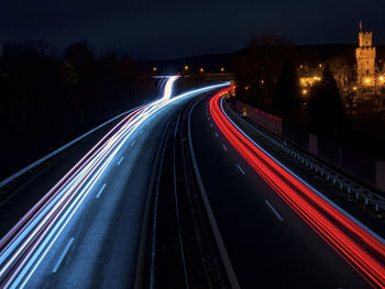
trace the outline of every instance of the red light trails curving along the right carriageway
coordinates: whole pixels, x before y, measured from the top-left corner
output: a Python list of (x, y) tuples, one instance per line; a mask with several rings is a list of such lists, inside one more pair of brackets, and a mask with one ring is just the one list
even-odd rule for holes
[(334, 251), (375, 288), (385, 288), (385, 241), (306, 184), (251, 140), (223, 110), (223, 96), (210, 100), (215, 123), (250, 166)]

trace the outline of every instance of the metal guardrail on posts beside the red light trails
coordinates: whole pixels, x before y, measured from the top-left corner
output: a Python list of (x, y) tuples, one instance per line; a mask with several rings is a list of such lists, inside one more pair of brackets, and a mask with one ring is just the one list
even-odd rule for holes
[(270, 143), (272, 143), (275, 147), (279, 148), (282, 152), (284, 152), (292, 158), (296, 159), (301, 166), (310, 169), (316, 175), (322, 177), (326, 181), (345, 191), (355, 200), (363, 201), (363, 203), (366, 207), (372, 205), (375, 212), (378, 212), (380, 210), (383, 210), (385, 212), (384, 197), (378, 196), (377, 193), (369, 190), (367, 188), (354, 182), (349, 177), (337, 173), (336, 170), (331, 169), (324, 164), (321, 164), (311, 155), (299, 151), (290, 144), (287, 144), (284, 140), (257, 129), (256, 126), (242, 119), (242, 116), (240, 116), (237, 111), (230, 108), (228, 102), (226, 102), (226, 105), (228, 110), (233, 112), (232, 114), (234, 114), (238, 118), (238, 120), (242, 122), (242, 124), (246, 125), (250, 130), (252, 130)]

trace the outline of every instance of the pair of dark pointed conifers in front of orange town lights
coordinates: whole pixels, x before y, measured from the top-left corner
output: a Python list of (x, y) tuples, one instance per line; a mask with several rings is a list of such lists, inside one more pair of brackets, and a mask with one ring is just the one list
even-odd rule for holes
[(329, 65), (323, 69), (321, 81), (304, 97), (296, 67), (287, 60), (277, 79), (272, 110), (285, 122), (306, 125), (327, 136), (337, 137), (346, 125), (345, 105)]

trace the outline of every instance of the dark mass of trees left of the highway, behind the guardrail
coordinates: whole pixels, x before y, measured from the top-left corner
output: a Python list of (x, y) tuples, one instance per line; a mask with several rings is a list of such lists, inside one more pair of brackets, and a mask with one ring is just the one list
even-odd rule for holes
[(0, 55), (0, 179), (151, 98), (154, 80), (130, 56), (96, 56), (85, 43), (58, 55), (43, 42)]

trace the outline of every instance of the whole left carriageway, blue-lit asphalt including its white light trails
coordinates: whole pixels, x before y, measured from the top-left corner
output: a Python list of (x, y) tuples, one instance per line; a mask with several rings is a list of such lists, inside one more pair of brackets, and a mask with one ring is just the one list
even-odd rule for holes
[(168, 119), (197, 95), (161, 99), (117, 124), (0, 241), (1, 288), (131, 288), (154, 156)]

